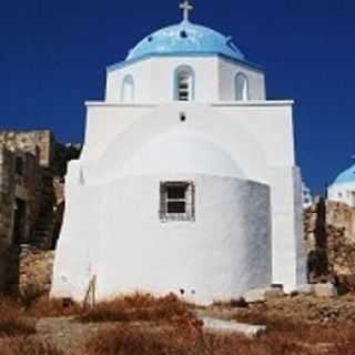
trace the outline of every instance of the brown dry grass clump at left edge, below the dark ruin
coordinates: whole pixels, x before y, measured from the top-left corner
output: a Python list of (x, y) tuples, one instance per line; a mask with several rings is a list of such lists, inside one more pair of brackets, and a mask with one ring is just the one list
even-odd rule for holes
[(10, 300), (0, 300), (0, 337), (34, 333), (34, 322), (23, 318), (23, 314), (17, 303)]

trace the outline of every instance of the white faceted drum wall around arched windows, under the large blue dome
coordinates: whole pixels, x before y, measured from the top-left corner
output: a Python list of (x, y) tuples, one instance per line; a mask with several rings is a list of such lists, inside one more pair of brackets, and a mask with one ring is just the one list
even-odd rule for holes
[(174, 101), (175, 70), (181, 65), (194, 71), (194, 101), (234, 101), (235, 75), (244, 73), (248, 79), (250, 100), (265, 100), (265, 79), (261, 70), (220, 57), (168, 57), (151, 58), (109, 69), (105, 101), (119, 103), (122, 82), (126, 75), (134, 79), (134, 102), (164, 103)]

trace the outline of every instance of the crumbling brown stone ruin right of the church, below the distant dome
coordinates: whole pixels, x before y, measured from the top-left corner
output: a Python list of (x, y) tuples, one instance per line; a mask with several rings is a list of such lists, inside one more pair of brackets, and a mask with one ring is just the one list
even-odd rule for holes
[(317, 197), (304, 213), (308, 281), (355, 288), (355, 209)]

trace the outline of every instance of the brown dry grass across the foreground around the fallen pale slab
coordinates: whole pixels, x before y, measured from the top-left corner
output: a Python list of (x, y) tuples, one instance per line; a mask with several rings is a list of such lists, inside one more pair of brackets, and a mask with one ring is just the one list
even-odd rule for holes
[(235, 320), (267, 326), (265, 335), (248, 339), (237, 335), (204, 333), (201, 323), (193, 316), (180, 317), (178, 314), (178, 323), (159, 323), (155, 326), (144, 326), (140, 323), (103, 329), (88, 342), (87, 353), (88, 355), (355, 354), (355, 332), (341, 323), (332, 325), (310, 323), (245, 310), (235, 316)]

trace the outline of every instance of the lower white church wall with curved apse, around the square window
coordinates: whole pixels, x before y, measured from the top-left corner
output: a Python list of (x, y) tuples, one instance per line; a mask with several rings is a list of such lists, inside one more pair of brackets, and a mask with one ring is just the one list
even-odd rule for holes
[[(159, 186), (166, 180), (194, 181), (195, 222), (160, 221)], [(65, 214), (52, 296), (67, 293), (82, 301), (82, 285), (92, 275), (98, 277), (99, 300), (134, 291), (179, 294), (183, 288), (190, 301), (205, 304), (270, 285), (270, 191), (265, 185), (165, 174), (126, 178), (92, 189), (81, 187), (70, 200), (88, 220), (82, 223), (78, 215)], [(88, 203), (88, 199), (100, 203)]]

